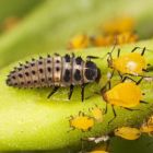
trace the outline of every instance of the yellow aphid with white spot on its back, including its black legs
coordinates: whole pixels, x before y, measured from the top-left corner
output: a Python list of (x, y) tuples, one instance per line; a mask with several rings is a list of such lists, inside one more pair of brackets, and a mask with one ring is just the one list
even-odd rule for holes
[(145, 47), (143, 48), (142, 52), (134, 52), (139, 47), (132, 49), (130, 54), (120, 56), (120, 49), (118, 50), (118, 55), (116, 59), (113, 59), (111, 52), (109, 52), (109, 57), (107, 59), (108, 67), (116, 70), (119, 75), (121, 74), (132, 74), (132, 75), (140, 75), (143, 71), (146, 72), (146, 61), (143, 57), (145, 52)]

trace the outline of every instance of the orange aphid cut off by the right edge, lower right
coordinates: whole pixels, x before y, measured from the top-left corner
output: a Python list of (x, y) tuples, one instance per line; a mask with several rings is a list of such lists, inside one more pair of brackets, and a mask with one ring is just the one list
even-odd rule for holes
[(151, 116), (140, 128), (141, 132), (153, 134), (153, 116)]

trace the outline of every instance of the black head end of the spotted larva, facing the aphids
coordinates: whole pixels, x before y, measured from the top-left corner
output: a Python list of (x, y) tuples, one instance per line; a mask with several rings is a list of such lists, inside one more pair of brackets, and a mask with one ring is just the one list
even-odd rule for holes
[(101, 70), (93, 61), (86, 61), (84, 67), (84, 81), (85, 82), (98, 82), (101, 79)]

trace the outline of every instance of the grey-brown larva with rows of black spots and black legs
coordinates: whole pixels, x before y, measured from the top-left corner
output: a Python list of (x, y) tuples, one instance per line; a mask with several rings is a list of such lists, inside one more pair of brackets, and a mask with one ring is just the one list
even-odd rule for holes
[(73, 87), (81, 85), (82, 101), (84, 99), (84, 86), (87, 83), (98, 81), (101, 71), (96, 64), (91, 61), (92, 56), (86, 57), (84, 61), (81, 57), (66, 55), (63, 57), (55, 54), (46, 58), (39, 57), (10, 72), (7, 84), (14, 87), (50, 87), (52, 92), (48, 98), (61, 87), (70, 86), (69, 99), (72, 96)]

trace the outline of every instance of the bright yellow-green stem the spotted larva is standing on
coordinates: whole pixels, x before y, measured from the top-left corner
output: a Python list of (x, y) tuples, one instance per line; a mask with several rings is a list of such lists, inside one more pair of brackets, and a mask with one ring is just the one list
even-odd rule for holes
[[(153, 47), (153, 40), (142, 42), (138, 46)], [(121, 54), (130, 52), (133, 45), (121, 48)], [(95, 48), (80, 50), (76, 55), (98, 55), (104, 57), (110, 48)], [(64, 51), (62, 51), (64, 52)], [(116, 54), (116, 51), (115, 51)], [(114, 54), (114, 56), (116, 56)], [(146, 51), (145, 58), (148, 62), (153, 64), (153, 52)], [(27, 58), (27, 60), (31, 58)], [(24, 60), (23, 60), (24, 61)], [(113, 118), (113, 111), (109, 107), (108, 114), (104, 118), (104, 122), (96, 123), (91, 131), (82, 132), (80, 130), (70, 130), (69, 117), (76, 116), (79, 111), (89, 113), (89, 108), (95, 104), (99, 108), (105, 107), (102, 96), (95, 95), (95, 91), (99, 91), (99, 86), (106, 82), (106, 73), (108, 70), (106, 58), (95, 60), (102, 71), (101, 84), (91, 84), (85, 89), (85, 97), (91, 96), (81, 103), (80, 89), (74, 90), (71, 101), (67, 99), (68, 89), (60, 90), (50, 99), (47, 94), (50, 89), (39, 90), (19, 90), (5, 85), (5, 78), (15, 63), (0, 71), (0, 150), (60, 150), (64, 148), (74, 152), (81, 149), (82, 137), (104, 134), (113, 130), (115, 127), (122, 125), (139, 125), (152, 111), (152, 83), (143, 82), (142, 91), (145, 93), (144, 101), (150, 104), (141, 104), (138, 108), (141, 110), (128, 111), (116, 108), (117, 118), (108, 126), (109, 119)], [(149, 73), (152, 75), (152, 72)], [(149, 75), (148, 74), (148, 75)], [(125, 91), (126, 92), (126, 91)], [(69, 132), (68, 132), (69, 131)]]

